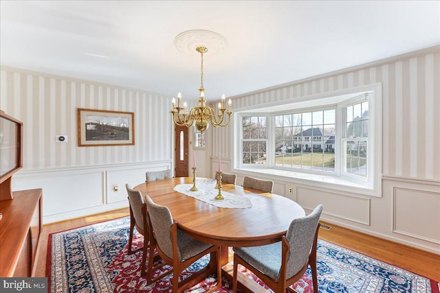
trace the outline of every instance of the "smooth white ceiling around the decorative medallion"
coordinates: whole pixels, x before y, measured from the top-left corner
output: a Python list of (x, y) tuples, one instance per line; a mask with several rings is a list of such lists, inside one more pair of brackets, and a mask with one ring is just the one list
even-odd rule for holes
[[(440, 45), (440, 1), (0, 1), (1, 65), (196, 98), (200, 56), (175, 37), (228, 40), (204, 55), (208, 100)], [(209, 48), (208, 48), (209, 49)]]

